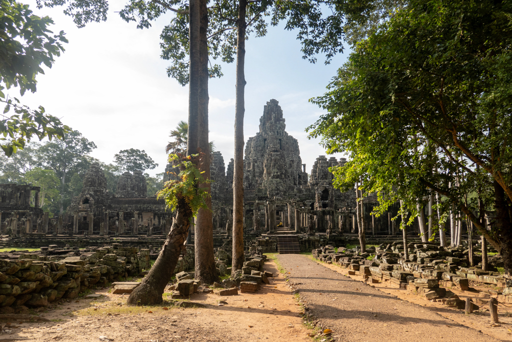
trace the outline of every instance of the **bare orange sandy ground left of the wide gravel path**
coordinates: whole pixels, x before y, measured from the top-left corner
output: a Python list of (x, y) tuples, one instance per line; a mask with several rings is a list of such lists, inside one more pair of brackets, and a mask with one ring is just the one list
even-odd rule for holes
[[(23, 323), (0, 321), (0, 342), (54, 341), (310, 341), (299, 314), (301, 308), (272, 261), (270, 285), (257, 293), (220, 297), (195, 294), (190, 301), (206, 308), (126, 307), (126, 295), (97, 291), (97, 298), (63, 301), (41, 316), (54, 321)], [(221, 300), (227, 304), (219, 305)], [(45, 309), (46, 310), (46, 309)], [(0, 329), (1, 331), (1, 329)], [(100, 337), (103, 336), (102, 339)]]

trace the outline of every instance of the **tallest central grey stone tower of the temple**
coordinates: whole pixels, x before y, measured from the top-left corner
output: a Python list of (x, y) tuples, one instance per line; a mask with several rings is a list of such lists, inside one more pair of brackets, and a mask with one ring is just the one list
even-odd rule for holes
[(285, 130), (279, 102), (271, 99), (260, 118), (260, 132), (250, 137), (245, 148), (244, 188), (260, 189), (259, 195), (281, 198), (289, 190), (308, 183), (302, 167), (297, 139)]

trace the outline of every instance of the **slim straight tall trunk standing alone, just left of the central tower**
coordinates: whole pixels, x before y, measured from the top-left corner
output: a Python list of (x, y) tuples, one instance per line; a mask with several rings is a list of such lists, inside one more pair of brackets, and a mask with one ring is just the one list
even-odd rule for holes
[(244, 266), (244, 113), (245, 113), (245, 12), (247, 0), (240, 0), (237, 36), (237, 94), (234, 113), (233, 172), (233, 261), (231, 272)]

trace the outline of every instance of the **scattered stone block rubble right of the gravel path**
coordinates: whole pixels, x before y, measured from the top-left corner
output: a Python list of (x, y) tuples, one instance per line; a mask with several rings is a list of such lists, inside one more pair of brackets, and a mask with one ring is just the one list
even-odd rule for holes
[[(364, 276), (370, 283), (389, 281), (398, 288), (424, 295), (427, 299), (464, 308), (464, 301), (446, 290), (468, 290), (470, 285), (493, 287), (488, 293), (499, 301), (512, 303), (512, 284), (508, 284), (497, 267), (503, 266), (499, 257), (489, 256), (489, 270), (467, 266), (467, 250), (462, 247), (445, 248), (433, 243), (408, 245), (409, 260), (403, 259), (403, 244), (394, 242), (378, 248), (346, 249), (328, 245), (314, 249), (314, 258), (348, 269), (349, 275)], [(503, 289), (502, 291), (496, 288)], [(483, 304), (483, 303), (480, 303)]]

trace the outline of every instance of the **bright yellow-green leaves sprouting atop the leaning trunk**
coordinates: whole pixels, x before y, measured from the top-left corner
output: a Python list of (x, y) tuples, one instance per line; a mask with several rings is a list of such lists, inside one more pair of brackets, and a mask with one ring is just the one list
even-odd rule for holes
[(208, 210), (206, 198), (210, 194), (206, 191), (206, 188), (201, 188), (200, 185), (210, 183), (211, 180), (204, 179), (203, 172), (197, 168), (198, 156), (199, 154), (191, 156), (169, 155), (169, 163), (178, 165), (181, 172), (178, 174), (179, 180), (165, 182), (164, 188), (157, 193), (157, 198), (165, 199), (167, 209), (176, 210), (179, 198), (183, 198), (194, 216), (200, 208)]

